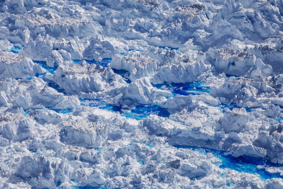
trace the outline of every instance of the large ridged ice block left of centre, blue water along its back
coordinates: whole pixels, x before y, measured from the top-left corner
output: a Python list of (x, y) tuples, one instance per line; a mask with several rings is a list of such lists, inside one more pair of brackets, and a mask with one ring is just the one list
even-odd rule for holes
[(59, 66), (55, 74), (47, 75), (47, 78), (55, 81), (66, 92), (78, 95), (99, 93), (98, 95), (111, 96), (116, 94), (114, 90), (119, 91), (119, 88), (126, 85), (120, 75), (114, 74), (111, 68), (87, 64), (85, 61), (80, 64)]

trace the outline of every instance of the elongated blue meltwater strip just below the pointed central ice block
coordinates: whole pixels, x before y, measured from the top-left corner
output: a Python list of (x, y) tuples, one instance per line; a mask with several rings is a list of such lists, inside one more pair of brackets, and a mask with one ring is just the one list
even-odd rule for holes
[(135, 118), (136, 120), (141, 120), (149, 116), (150, 114), (158, 115), (161, 117), (169, 117), (170, 113), (165, 108), (161, 108), (159, 105), (136, 105), (135, 109), (131, 109), (130, 112), (123, 112), (120, 105), (114, 105), (105, 103), (103, 100), (98, 99), (80, 99), (81, 105), (98, 107), (103, 110), (109, 110), (111, 112), (119, 112), (122, 116), (126, 118)]

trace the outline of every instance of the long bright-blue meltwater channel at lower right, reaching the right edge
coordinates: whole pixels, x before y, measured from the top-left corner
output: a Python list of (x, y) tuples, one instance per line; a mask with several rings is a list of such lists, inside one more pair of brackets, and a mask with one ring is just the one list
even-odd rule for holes
[(282, 169), (282, 165), (275, 164), (270, 162), (267, 159), (251, 157), (251, 156), (240, 156), (234, 157), (231, 153), (225, 151), (219, 151), (208, 148), (184, 146), (184, 145), (174, 145), (176, 148), (185, 148), (192, 149), (193, 151), (199, 151), (200, 153), (206, 154), (208, 152), (212, 153), (215, 157), (219, 158), (219, 162), (216, 162), (216, 165), (219, 165), (219, 168), (229, 168), (238, 172), (245, 172), (250, 174), (257, 173), (260, 175), (260, 179), (271, 179), (271, 178), (283, 178), (279, 173), (271, 174), (265, 171), (264, 169), (257, 168), (258, 165), (265, 167), (278, 167)]

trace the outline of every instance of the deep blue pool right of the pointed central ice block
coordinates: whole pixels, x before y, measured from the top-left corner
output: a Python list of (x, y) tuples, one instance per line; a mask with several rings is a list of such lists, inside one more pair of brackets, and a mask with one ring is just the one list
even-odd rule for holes
[[(152, 84), (152, 86), (158, 88), (158, 89), (167, 89), (170, 90), (173, 94), (173, 96), (176, 96), (176, 94), (185, 95), (188, 96), (190, 94), (197, 94), (197, 92), (206, 92), (209, 93), (210, 88), (204, 86), (205, 84), (203, 82), (193, 82), (193, 83), (164, 83), (164, 84)], [(161, 88), (162, 86), (165, 86), (165, 88)], [(195, 91), (195, 92), (194, 92)]]

